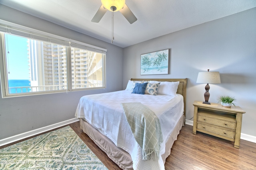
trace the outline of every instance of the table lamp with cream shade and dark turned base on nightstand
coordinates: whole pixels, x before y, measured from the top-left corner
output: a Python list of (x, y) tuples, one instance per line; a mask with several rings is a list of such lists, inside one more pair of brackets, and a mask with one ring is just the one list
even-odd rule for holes
[(220, 72), (198, 72), (198, 77), (196, 80), (197, 83), (207, 83), (205, 86), (206, 92), (204, 93), (204, 102), (203, 104), (210, 104), (208, 102), (210, 98), (210, 93), (209, 93), (209, 83), (211, 84), (220, 84)]

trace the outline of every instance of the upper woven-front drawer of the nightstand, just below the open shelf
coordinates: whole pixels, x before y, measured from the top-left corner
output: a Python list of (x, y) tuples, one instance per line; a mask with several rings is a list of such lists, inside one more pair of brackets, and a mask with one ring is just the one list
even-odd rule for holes
[(236, 129), (235, 121), (227, 121), (227, 120), (217, 119), (215, 117), (208, 117), (208, 116), (200, 114), (200, 113), (198, 113), (197, 121), (209, 123), (211, 125), (216, 125), (216, 126), (220, 126), (220, 127), (226, 127), (228, 129)]

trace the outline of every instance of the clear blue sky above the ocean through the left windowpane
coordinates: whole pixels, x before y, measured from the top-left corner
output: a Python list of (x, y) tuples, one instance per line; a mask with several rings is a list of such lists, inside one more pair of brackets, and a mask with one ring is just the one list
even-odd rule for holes
[(8, 80), (29, 80), (27, 39), (8, 34), (5, 39)]

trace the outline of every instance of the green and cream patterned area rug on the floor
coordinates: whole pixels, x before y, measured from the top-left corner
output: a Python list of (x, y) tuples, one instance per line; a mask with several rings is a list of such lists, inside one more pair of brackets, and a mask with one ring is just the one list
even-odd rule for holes
[(0, 149), (0, 170), (108, 170), (69, 126)]

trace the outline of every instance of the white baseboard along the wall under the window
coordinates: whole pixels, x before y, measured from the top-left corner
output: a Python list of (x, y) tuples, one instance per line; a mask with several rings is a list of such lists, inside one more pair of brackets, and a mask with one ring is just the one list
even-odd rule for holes
[(41, 127), (41, 128), (38, 128), (38, 129), (34, 129), (32, 131), (28, 131), (28, 132), (21, 133), (21, 134), (15, 135), (15, 136), (11, 136), (11, 137), (8, 137), (8, 138), (5, 138), (5, 139), (1, 139), (0, 140), (0, 146), (7, 145), (9, 143), (19, 141), (21, 139), (25, 139), (27, 137), (31, 137), (31, 136), (37, 135), (39, 133), (50, 131), (52, 129), (55, 129), (55, 128), (58, 128), (58, 127), (61, 127), (61, 126), (64, 126), (64, 125), (68, 125), (68, 124), (74, 123), (76, 121), (79, 121), (79, 119), (73, 118), (73, 119), (69, 119), (69, 120), (66, 120), (66, 121), (59, 122), (59, 123), (55, 123), (53, 125), (48, 125), (46, 127)]

